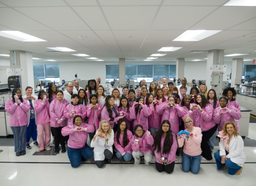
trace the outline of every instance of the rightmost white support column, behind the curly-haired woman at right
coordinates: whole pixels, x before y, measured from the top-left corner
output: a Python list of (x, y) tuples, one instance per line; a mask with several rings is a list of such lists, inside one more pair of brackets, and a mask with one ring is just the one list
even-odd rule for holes
[(241, 84), (243, 73), (243, 58), (234, 58), (232, 60), (231, 87)]

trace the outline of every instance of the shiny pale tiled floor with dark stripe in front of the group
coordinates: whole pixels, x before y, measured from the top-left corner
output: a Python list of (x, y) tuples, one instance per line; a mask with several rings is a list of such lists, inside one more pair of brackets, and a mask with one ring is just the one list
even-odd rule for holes
[[(256, 139), (256, 123), (250, 124), (248, 137)], [(133, 161), (121, 163), (114, 156), (111, 164), (106, 164), (101, 169), (97, 168), (93, 158), (79, 168), (72, 168), (67, 153), (56, 156), (32, 156), (36, 151), (36, 147), (32, 146), (31, 150), (26, 150), (26, 155), (16, 157), (13, 146), (0, 146), (0, 149), (4, 150), (0, 153), (1, 186), (256, 185), (256, 147), (244, 147), (246, 163), (242, 174), (238, 176), (230, 176), (227, 170), (217, 170), (215, 160), (202, 161), (200, 172), (196, 175), (192, 172), (185, 173), (180, 164), (181, 156), (178, 156), (174, 172), (167, 174), (156, 171), (154, 156), (150, 166), (134, 166)], [(216, 146), (214, 152), (217, 150)]]

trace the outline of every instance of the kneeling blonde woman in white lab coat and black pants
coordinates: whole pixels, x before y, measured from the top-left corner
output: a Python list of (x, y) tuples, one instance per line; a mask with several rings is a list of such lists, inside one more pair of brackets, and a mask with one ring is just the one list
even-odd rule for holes
[(104, 166), (104, 160), (110, 163), (110, 159), (113, 156), (114, 144), (114, 131), (110, 127), (110, 123), (107, 120), (100, 122), (100, 127), (94, 135), (91, 147), (94, 147), (94, 160), (98, 168)]

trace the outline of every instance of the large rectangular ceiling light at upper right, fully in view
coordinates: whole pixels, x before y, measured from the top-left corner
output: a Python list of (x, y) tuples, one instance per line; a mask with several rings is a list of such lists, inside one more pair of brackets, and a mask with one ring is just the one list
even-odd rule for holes
[(190, 42), (190, 41), (200, 41), (204, 38), (208, 38), (222, 30), (187, 30), (177, 38), (172, 41)]

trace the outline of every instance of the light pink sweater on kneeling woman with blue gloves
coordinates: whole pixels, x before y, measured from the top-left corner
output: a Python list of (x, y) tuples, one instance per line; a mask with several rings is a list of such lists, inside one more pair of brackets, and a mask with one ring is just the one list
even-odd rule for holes
[(189, 135), (189, 139), (185, 139), (186, 134), (180, 135), (180, 138), (177, 137), (179, 147), (182, 147), (184, 144), (183, 152), (189, 156), (198, 156), (202, 153), (201, 151), (201, 141), (202, 141), (202, 131), (199, 127), (194, 127), (192, 131), (193, 137)]

